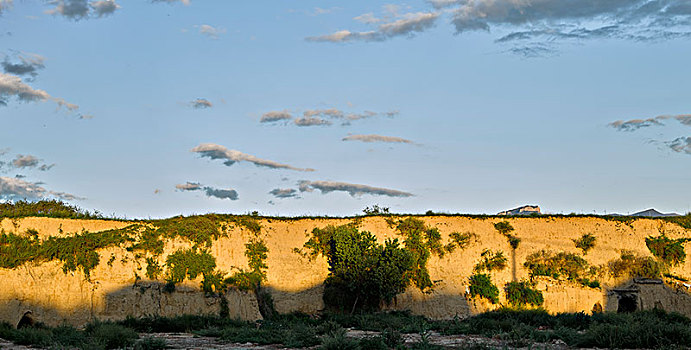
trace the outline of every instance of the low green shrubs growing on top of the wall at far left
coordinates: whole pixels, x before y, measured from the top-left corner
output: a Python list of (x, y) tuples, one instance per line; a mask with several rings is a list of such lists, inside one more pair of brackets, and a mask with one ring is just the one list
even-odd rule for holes
[(27, 216), (69, 218), (69, 219), (104, 219), (98, 212), (89, 213), (76, 206), (58, 200), (41, 200), (36, 202), (16, 201), (0, 203), (0, 218), (21, 218)]

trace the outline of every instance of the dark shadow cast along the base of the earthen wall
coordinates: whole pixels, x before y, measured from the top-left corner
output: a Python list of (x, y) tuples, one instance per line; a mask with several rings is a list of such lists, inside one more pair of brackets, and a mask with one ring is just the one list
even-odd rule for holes
[[(275, 288), (266, 290), (271, 293), (279, 313), (313, 314), (324, 309), (321, 298), (322, 285), (299, 291), (281, 291)], [(223, 296), (227, 303), (222, 301)], [(205, 295), (192, 285), (179, 285), (175, 291), (167, 292), (165, 284), (161, 282), (138, 281), (130, 287), (117, 289), (102, 297), (94, 293), (91, 304), (69, 310), (57, 305), (26, 300), (4, 300), (0, 302), (0, 321), (8, 322), (14, 327), (26, 322), (41, 322), (49, 326), (71, 324), (79, 327), (95, 320), (116, 321), (128, 316), (220, 315), (225, 307), (230, 318), (262, 318), (254, 293), (231, 289), (223, 296)], [(410, 310), (413, 314), (443, 319), (454, 316), (463, 318), (495, 307), (483, 303), (482, 300), (468, 300), (460, 293), (425, 294), (416, 289), (409, 289), (406, 293), (398, 295), (384, 310)], [(661, 280), (633, 279), (606, 290), (604, 311), (633, 312), (654, 308), (691, 316), (691, 295), (688, 288), (683, 284), (670, 287)]]

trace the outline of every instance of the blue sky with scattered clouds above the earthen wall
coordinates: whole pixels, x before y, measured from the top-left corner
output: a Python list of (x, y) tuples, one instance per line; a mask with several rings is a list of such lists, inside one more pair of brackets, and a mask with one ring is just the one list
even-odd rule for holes
[(0, 0), (0, 200), (685, 213), (690, 38), (688, 0)]

